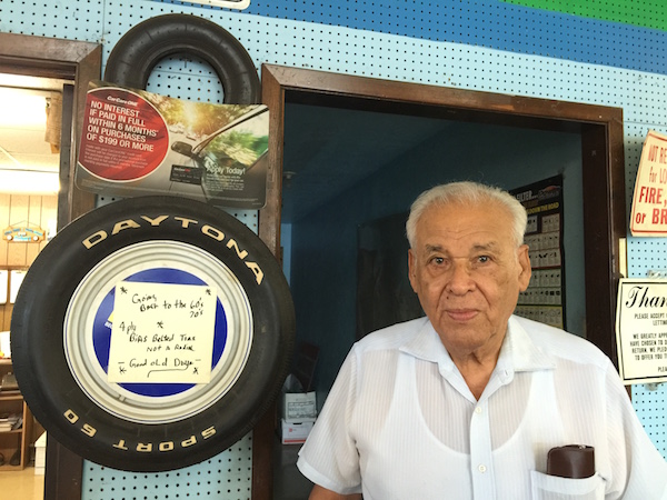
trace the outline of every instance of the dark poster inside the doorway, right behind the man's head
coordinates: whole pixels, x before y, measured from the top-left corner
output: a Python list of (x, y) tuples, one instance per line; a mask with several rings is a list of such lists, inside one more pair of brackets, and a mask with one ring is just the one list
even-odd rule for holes
[(565, 262), (563, 252), (563, 177), (556, 176), (510, 190), (528, 212), (525, 242), (532, 276), (519, 294), (516, 314), (565, 328)]

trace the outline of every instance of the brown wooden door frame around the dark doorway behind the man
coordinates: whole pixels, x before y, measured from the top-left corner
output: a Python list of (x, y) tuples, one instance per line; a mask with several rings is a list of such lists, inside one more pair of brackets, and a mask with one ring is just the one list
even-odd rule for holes
[[(275, 254), (280, 248), (287, 101), (325, 102), (326, 106), (354, 109), (389, 104), (408, 112), (418, 108), (440, 112), (448, 120), (578, 132), (584, 192), (586, 336), (617, 364), (615, 309), (620, 278), (619, 240), (626, 237), (623, 109), (275, 64), (261, 67), (261, 81), (262, 102), (269, 107), (270, 126), (267, 204), (260, 210), (259, 236)], [(257, 437), (256, 448), (262, 444), (259, 441)], [(263, 456), (270, 456), (270, 452)], [(253, 477), (271, 477), (270, 462), (256, 463), (253, 460)], [(267, 490), (270, 486), (255, 487), (253, 483), (253, 499), (271, 498)]]

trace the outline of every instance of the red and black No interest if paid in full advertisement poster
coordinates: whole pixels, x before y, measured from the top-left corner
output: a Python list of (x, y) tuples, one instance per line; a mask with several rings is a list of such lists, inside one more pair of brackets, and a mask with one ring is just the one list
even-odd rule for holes
[(91, 82), (77, 186), (130, 198), (173, 194), (220, 207), (266, 203), (269, 112)]

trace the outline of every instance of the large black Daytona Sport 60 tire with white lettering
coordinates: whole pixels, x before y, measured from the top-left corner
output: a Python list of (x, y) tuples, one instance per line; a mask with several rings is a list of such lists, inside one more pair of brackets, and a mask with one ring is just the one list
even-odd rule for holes
[[(136, 394), (132, 384), (108, 382), (103, 353), (109, 326), (87, 322), (109, 317), (107, 299), (119, 277), (160, 282), (145, 273), (165, 269), (203, 276), (205, 284), (217, 287), (217, 311), (222, 307), (223, 314), (216, 316), (216, 336), (220, 317), (243, 324), (246, 313), (252, 326), (249, 333), (225, 333), (220, 352), (230, 349), (225, 356), (242, 361), (238, 373), (220, 370), (210, 384), (182, 391), (178, 386), (169, 404), (162, 403), (163, 393)], [(240, 313), (221, 306), (223, 294), (225, 303), (238, 298)], [(81, 327), (88, 324), (90, 329)], [(175, 197), (113, 202), (63, 228), (28, 271), (11, 321), (14, 372), (37, 420), (79, 456), (129, 471), (198, 463), (249, 432), (280, 392), (293, 336), (289, 288), (263, 242), (221, 210)], [(218, 362), (216, 354), (212, 362)], [(225, 377), (232, 379), (226, 387)]]

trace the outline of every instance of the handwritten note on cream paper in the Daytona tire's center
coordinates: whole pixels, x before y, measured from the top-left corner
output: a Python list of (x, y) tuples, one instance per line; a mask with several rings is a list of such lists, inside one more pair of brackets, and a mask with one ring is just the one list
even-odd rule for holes
[(118, 283), (109, 382), (209, 382), (216, 303), (208, 286)]

